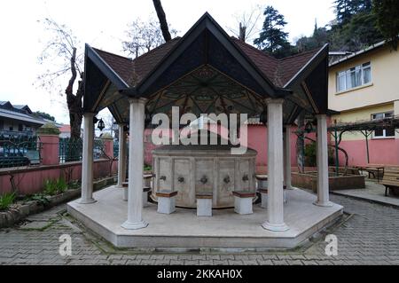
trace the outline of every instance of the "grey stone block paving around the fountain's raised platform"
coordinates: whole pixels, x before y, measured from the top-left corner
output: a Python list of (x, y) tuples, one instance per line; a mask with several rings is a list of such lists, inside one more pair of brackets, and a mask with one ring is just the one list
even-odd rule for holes
[[(341, 265), (399, 264), (397, 208), (332, 195), (350, 214), (345, 221), (293, 251), (260, 253), (170, 253), (115, 250), (65, 215), (66, 205), (30, 216), (27, 224), (0, 230), (0, 264), (160, 265)], [(325, 234), (338, 238), (338, 255), (325, 255)], [(59, 237), (69, 234), (72, 255), (59, 255)]]

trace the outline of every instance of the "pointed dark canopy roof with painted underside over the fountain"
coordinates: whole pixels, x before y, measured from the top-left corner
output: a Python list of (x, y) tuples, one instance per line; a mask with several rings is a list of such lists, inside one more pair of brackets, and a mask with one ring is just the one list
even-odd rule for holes
[(266, 107), (265, 98), (285, 98), (285, 122), (292, 123), (302, 111), (326, 113), (327, 58), (325, 45), (275, 59), (230, 37), (205, 13), (183, 37), (137, 59), (87, 44), (84, 110), (108, 107), (117, 122), (127, 122), (127, 99), (145, 97), (151, 114), (180, 106), (194, 114), (255, 115)]

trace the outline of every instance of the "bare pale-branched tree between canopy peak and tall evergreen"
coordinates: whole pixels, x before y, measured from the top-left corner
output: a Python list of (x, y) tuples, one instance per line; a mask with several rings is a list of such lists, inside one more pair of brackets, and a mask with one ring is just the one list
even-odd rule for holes
[(260, 28), (260, 20), (262, 20), (261, 5), (254, 5), (246, 12), (237, 12), (234, 15), (237, 26), (228, 28), (229, 31), (243, 42), (254, 39), (254, 35), (258, 35)]

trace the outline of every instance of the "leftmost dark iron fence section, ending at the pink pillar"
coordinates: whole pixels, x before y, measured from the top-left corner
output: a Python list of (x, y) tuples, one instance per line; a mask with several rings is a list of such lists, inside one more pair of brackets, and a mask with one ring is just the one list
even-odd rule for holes
[(0, 135), (0, 168), (39, 164), (40, 146), (36, 137)]

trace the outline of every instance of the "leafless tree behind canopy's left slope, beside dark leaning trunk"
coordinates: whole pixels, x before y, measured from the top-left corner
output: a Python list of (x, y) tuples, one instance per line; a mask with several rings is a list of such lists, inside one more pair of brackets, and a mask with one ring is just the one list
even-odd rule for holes
[[(173, 36), (176, 36), (176, 29), (170, 27), (168, 29)], [(128, 39), (122, 42), (123, 51), (127, 51), (129, 55), (136, 58), (165, 43), (160, 26), (153, 17), (150, 17), (147, 21), (134, 20), (129, 24), (126, 35)]]

